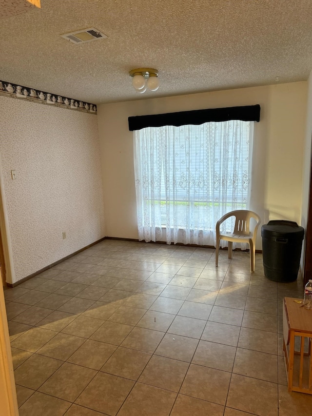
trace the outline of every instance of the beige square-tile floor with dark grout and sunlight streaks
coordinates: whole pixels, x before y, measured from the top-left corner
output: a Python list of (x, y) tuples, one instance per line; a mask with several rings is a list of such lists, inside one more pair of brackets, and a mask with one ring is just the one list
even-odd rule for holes
[(248, 253), (104, 240), (4, 292), (20, 416), (311, 415)]

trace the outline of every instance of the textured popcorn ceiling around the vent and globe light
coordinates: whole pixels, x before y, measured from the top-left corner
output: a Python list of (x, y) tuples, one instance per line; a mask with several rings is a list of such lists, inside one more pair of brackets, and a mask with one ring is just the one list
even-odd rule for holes
[[(59, 36), (89, 27), (108, 38)], [(158, 69), (158, 91), (135, 92), (138, 67)], [(305, 80), (311, 69), (311, 0), (41, 0), (0, 23), (0, 79), (96, 104)]]

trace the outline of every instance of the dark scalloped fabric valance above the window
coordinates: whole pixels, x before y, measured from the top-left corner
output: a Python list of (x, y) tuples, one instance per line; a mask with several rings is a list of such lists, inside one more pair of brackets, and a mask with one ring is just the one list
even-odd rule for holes
[(128, 118), (130, 131), (140, 130), (144, 127), (183, 126), (187, 124), (203, 124), (209, 121), (228, 120), (259, 121), (260, 105), (209, 108), (207, 110), (180, 111), (177, 113)]

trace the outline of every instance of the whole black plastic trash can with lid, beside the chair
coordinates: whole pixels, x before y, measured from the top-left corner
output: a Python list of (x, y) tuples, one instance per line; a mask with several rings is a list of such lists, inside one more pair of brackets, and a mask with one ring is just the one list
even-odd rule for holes
[(298, 276), (304, 228), (294, 221), (274, 220), (261, 227), (265, 276), (292, 282)]

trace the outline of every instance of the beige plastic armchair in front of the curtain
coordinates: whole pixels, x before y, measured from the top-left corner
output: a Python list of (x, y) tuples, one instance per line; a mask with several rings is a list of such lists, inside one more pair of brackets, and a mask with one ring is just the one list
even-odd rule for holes
[[(220, 225), (227, 218), (235, 217), (234, 231), (232, 234), (221, 234)], [(254, 218), (256, 225), (254, 230), (250, 231), (250, 220)], [(255, 240), (257, 237), (257, 230), (260, 225), (260, 217), (253, 211), (248, 210), (236, 210), (231, 211), (221, 217), (215, 227), (216, 231), (216, 250), (215, 250), (215, 266), (218, 265), (219, 247), (220, 240), (228, 241), (228, 257), (232, 258), (233, 242), (237, 243), (248, 243), (250, 247), (250, 270), (254, 272), (254, 257), (255, 257)]]

